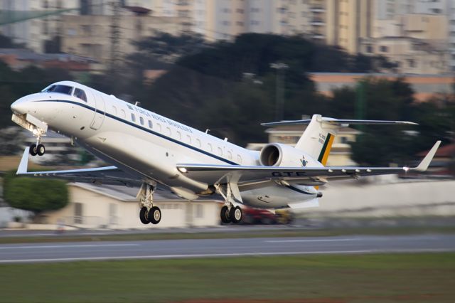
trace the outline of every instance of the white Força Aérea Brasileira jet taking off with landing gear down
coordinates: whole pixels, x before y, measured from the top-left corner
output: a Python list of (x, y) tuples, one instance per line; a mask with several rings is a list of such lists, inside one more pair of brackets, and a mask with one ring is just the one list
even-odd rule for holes
[[(317, 186), (328, 180), (425, 171), (440, 142), (415, 168), (326, 167), (333, 138), (348, 124), (414, 124), (402, 121), (333, 119), (314, 115), (308, 120), (264, 123), (264, 126), (308, 124), (295, 147), (270, 143), (251, 151), (210, 136), (154, 112), (71, 81), (53, 83), (11, 105), (12, 120), (33, 132), (36, 144), (26, 147), (17, 174), (50, 176), (96, 184), (140, 186), (139, 218), (159, 223), (154, 206), (156, 186), (195, 200), (219, 193), (225, 199), (224, 223), (242, 219), (241, 206), (269, 210), (319, 206)], [(48, 130), (74, 142), (112, 166), (64, 171), (27, 171), (28, 154), (45, 153), (42, 137)]]

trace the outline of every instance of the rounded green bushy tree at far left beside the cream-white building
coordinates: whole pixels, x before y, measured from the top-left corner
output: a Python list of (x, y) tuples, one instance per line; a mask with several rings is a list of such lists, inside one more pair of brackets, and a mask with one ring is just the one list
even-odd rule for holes
[(9, 206), (33, 211), (53, 211), (68, 204), (68, 188), (64, 181), (4, 176), (4, 199)]

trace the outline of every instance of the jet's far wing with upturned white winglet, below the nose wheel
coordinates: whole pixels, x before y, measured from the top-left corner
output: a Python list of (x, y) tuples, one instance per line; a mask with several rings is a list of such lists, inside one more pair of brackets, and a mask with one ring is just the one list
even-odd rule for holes
[(124, 186), (140, 186), (141, 179), (127, 174), (117, 166), (97, 167), (93, 169), (67, 169), (62, 171), (28, 171), (28, 149), (23, 151), (21, 163), (19, 164), (18, 176), (43, 176), (55, 179), (65, 179), (68, 181), (113, 184)]

